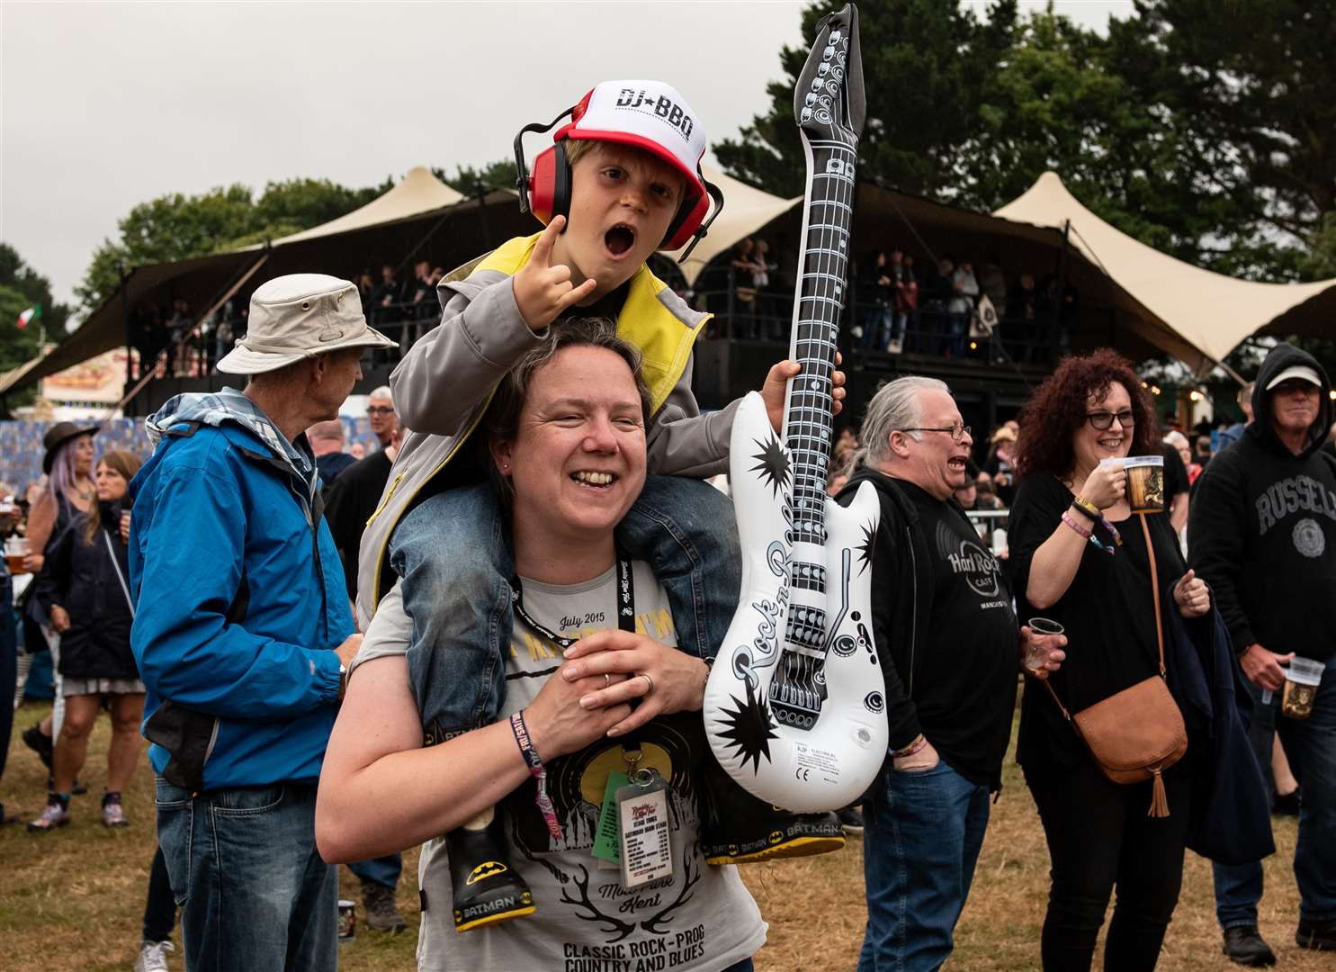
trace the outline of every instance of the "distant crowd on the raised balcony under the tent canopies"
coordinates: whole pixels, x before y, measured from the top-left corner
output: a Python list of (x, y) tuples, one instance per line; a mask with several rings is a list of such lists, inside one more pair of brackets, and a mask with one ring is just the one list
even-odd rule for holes
[[(656, 269), (669, 275), (688, 305), (713, 314), (705, 337), (788, 340), (792, 270), (780, 266), (764, 238), (740, 239), (711, 261), (695, 286), (671, 266), (656, 261)], [(426, 259), (413, 263), (411, 275), (383, 263), (378, 274), (366, 269), (353, 277), (367, 321), (402, 346), (382, 354), (385, 361), (397, 360), (440, 320), (437, 285), (444, 277), (445, 269)], [(851, 266), (851, 282), (847, 321), (854, 352), (981, 361), (998, 361), (1005, 353), (1021, 364), (1041, 364), (1066, 350), (1079, 314), (1074, 286), (1051, 273), (1009, 274), (999, 257), (977, 263), (947, 255), (919, 263), (900, 247), (876, 250)], [(140, 303), (130, 321), (140, 362), (134, 377), (152, 369), (176, 377), (208, 374), (244, 337), (247, 314), (247, 302), (239, 298), (203, 321), (184, 298)]]

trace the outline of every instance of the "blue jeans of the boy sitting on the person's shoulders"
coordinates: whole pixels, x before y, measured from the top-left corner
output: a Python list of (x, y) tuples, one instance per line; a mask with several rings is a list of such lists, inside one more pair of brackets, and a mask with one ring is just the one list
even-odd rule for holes
[[(617, 525), (668, 595), (677, 647), (713, 658), (741, 588), (732, 501), (701, 480), (649, 476)], [(437, 493), (390, 539), (403, 608), (413, 619), (409, 682), (432, 742), (496, 722), (505, 701), (513, 615), (510, 524), (489, 484)]]

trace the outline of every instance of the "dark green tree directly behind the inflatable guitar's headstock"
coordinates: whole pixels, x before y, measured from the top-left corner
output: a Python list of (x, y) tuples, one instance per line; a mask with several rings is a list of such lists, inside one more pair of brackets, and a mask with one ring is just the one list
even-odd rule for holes
[[(803, 36), (843, 3), (803, 11)], [(942, 0), (862, 0), (859, 40), (867, 123), (859, 143), (859, 175), (908, 193), (951, 195), (958, 187), (955, 152), (978, 135), (983, 92), (1011, 48), (1015, 0), (998, 0), (979, 17)], [(767, 87), (771, 103), (737, 139), (713, 146), (724, 170), (775, 193), (798, 195), (806, 163), (794, 120), (794, 86), (807, 47), (784, 47), (783, 79)]]

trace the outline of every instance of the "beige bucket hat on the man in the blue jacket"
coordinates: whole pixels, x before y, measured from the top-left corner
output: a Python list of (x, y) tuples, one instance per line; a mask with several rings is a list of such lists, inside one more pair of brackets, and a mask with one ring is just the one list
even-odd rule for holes
[(357, 285), (322, 273), (294, 273), (251, 295), (246, 337), (218, 362), (228, 374), (262, 374), (347, 348), (398, 348), (362, 314)]

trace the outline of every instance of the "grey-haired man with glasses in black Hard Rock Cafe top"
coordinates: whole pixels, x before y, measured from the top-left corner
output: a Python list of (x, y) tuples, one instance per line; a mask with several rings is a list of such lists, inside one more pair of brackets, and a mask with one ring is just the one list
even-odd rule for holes
[[(921, 377), (883, 385), (860, 441), (839, 501), (864, 480), (882, 501), (872, 634), (891, 731), (863, 802), (867, 928), (858, 968), (934, 969), (951, 955), (989, 793), (1002, 786), (1022, 635), (1002, 566), (954, 497), (974, 440), (950, 389)], [(1037, 674), (1047, 677), (1062, 658), (1053, 650)]]

